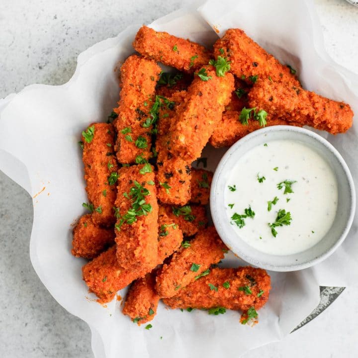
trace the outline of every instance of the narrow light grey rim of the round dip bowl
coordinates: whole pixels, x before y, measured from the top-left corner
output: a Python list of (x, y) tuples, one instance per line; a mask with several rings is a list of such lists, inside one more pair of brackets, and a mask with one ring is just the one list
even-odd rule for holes
[[(218, 184), (218, 180), (222, 174), (222, 169), (225, 167), (225, 164), (227, 162), (227, 160), (234, 155), (234, 153), (243, 145), (245, 145), (246, 143), (248, 143), (249, 141), (252, 140), (252, 138), (257, 137), (257, 136), (263, 136), (265, 137), (266, 135), (268, 135), (268, 133), (271, 132), (296, 132), (296, 133), (301, 133), (303, 135), (309, 136), (311, 138), (313, 138), (313, 140), (318, 141), (320, 144), (322, 144), (326, 150), (330, 151), (338, 160), (338, 162), (341, 164), (342, 167), (342, 175), (347, 179), (348, 181), (348, 190), (350, 192), (351, 195), (351, 201), (349, 203), (349, 216), (348, 216), (348, 220), (346, 220), (345, 225), (344, 225), (344, 230), (341, 233), (341, 235), (337, 238), (337, 240), (335, 241), (335, 243), (325, 252), (323, 252), (321, 255), (318, 255), (317, 257), (315, 257), (314, 259), (305, 262), (305, 263), (301, 263), (301, 264), (292, 264), (292, 265), (285, 265), (285, 266), (277, 266), (274, 264), (265, 264), (265, 263), (261, 263), (260, 260), (254, 259), (252, 256), (248, 256), (247, 254), (244, 254), (243, 252), (240, 251), (240, 249), (238, 247), (233, 248), (232, 245), (230, 245), (230, 250), (237, 256), (239, 256), (242, 260), (244, 260), (245, 262), (258, 266), (258, 264), (260, 265), (260, 268), (263, 269), (269, 269), (271, 271), (280, 271), (280, 272), (286, 272), (286, 271), (296, 271), (296, 270), (301, 270), (301, 269), (307, 269), (310, 268), (314, 265), (317, 265), (318, 263), (324, 261), (325, 259), (327, 259), (329, 256), (331, 256), (339, 247), (340, 245), (343, 243), (343, 241), (346, 239), (352, 224), (353, 224), (353, 220), (355, 217), (355, 212), (356, 212), (356, 189), (355, 189), (355, 184), (354, 184), (354, 180), (352, 177), (352, 174), (348, 168), (347, 163), (345, 162), (344, 158), (342, 157), (342, 155), (339, 153), (339, 151), (325, 138), (323, 138), (322, 136), (320, 136), (319, 134), (313, 132), (312, 130), (306, 129), (306, 128), (301, 128), (301, 127), (296, 127), (296, 126), (290, 126), (290, 125), (277, 125), (277, 126), (269, 126), (269, 127), (265, 127), (265, 128), (261, 128), (259, 130), (256, 130), (248, 135), (246, 135), (245, 137), (239, 139), (235, 144), (233, 144), (227, 151), (226, 153), (223, 155), (223, 157), (221, 158), (219, 164), (217, 165), (214, 175), (213, 175), (213, 179), (212, 179), (212, 183), (211, 183), (211, 189), (210, 189), (210, 212), (211, 212), (211, 216), (212, 216), (212, 221), (213, 224), (219, 234), (219, 236), (222, 238), (223, 242), (228, 245), (228, 240), (227, 239), (227, 233), (225, 230), (225, 225), (221, 224), (221, 221), (218, 218), (218, 214), (217, 214), (217, 210), (219, 208), (216, 207), (216, 203), (217, 203), (217, 195), (216, 195), (216, 187)], [(266, 138), (266, 141), (269, 142), (270, 139)], [(248, 149), (250, 150), (250, 149)], [(348, 206), (348, 205), (347, 205)], [(240, 242), (240, 241), (238, 241)], [(307, 249), (310, 250), (310, 249)], [(268, 254), (269, 255), (269, 254)], [(289, 255), (283, 255), (283, 256), (289, 256)]]

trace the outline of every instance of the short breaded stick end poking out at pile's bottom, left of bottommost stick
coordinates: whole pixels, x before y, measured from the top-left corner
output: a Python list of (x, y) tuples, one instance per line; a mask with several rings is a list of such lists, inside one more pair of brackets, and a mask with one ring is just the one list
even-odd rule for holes
[(135, 280), (129, 288), (122, 312), (138, 326), (151, 321), (157, 314), (160, 297), (154, 286), (155, 274), (147, 273), (143, 278)]

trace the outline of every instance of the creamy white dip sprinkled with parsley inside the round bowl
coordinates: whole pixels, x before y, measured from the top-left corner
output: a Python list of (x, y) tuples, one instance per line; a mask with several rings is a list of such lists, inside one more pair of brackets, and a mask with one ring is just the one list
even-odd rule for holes
[(299, 141), (254, 147), (236, 163), (224, 192), (227, 220), (257, 250), (291, 255), (317, 244), (337, 211), (336, 177)]

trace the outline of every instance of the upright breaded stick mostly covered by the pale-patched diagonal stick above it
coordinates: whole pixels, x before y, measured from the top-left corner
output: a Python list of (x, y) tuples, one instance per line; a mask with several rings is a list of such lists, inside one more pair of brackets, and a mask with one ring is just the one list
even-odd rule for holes
[(190, 199), (190, 164), (168, 151), (167, 136), (156, 142), (158, 199), (165, 204), (184, 205)]

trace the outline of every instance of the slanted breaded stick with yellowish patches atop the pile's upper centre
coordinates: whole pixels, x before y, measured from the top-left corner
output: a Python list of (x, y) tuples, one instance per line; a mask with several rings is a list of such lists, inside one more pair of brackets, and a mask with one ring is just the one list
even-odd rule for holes
[(170, 128), (169, 151), (188, 162), (200, 157), (234, 90), (230, 73), (218, 77), (212, 66), (204, 69), (209, 79), (195, 76)]

